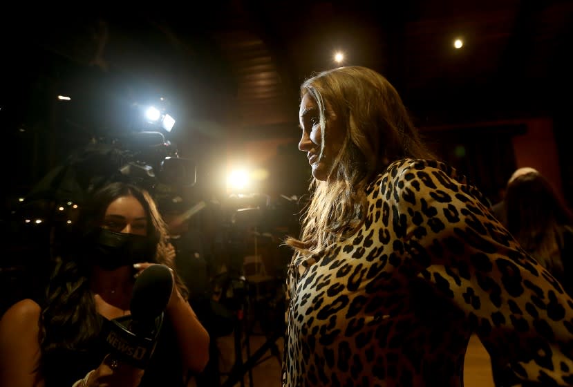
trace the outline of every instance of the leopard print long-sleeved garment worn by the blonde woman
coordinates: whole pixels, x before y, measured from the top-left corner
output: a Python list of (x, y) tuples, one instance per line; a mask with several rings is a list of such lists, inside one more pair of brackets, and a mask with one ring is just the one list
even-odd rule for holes
[(400, 160), (364, 225), (288, 271), (283, 386), (462, 386), (476, 332), (519, 381), (573, 384), (573, 301), (464, 176)]

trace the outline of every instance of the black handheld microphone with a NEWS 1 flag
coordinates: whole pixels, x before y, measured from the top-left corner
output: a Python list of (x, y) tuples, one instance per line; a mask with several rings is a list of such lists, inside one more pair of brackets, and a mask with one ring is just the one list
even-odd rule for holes
[(133, 284), (131, 315), (107, 321), (104, 340), (114, 359), (144, 369), (153, 355), (171, 291), (173, 276), (164, 265), (151, 265)]

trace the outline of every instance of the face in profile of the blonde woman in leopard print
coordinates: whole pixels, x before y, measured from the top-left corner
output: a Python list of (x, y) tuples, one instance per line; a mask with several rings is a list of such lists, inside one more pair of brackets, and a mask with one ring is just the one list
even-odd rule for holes
[[(321, 128), (317, 103), (310, 93), (303, 95), (299, 111), (299, 122), (302, 130), (299, 149), (307, 153), (312, 168), (312, 176), (326, 181), (336, 155), (344, 142), (344, 127), (337, 120), (337, 115), (328, 102), (326, 104), (326, 128)], [(322, 158), (319, 159), (322, 131), (325, 130), (325, 144)]]

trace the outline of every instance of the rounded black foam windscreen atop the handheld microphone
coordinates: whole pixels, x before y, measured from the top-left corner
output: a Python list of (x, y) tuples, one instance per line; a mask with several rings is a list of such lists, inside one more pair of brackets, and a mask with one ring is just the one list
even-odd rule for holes
[(136, 321), (153, 321), (167, 308), (173, 290), (171, 270), (164, 265), (151, 265), (133, 284), (129, 309)]

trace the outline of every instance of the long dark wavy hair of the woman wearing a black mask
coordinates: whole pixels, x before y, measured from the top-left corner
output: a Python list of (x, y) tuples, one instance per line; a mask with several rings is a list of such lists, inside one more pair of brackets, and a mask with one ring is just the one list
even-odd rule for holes
[[(167, 227), (147, 191), (126, 182), (113, 182), (95, 192), (80, 208), (77, 226), (70, 240), (72, 247), (55, 260), (41, 312), (42, 357), (53, 350), (81, 350), (100, 332), (102, 319), (95, 308), (89, 286), (92, 264), (86, 258), (85, 238), (94, 227), (100, 226), (110, 203), (125, 196), (136, 198), (147, 214), (147, 224), (150, 225), (147, 237), (156, 245), (155, 262), (173, 268), (173, 262), (165, 256)], [(178, 276), (175, 276), (175, 282), (182, 296), (187, 298), (187, 287)]]

